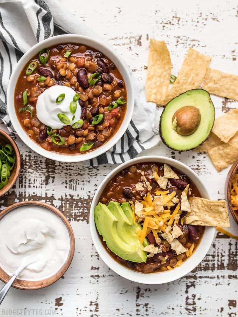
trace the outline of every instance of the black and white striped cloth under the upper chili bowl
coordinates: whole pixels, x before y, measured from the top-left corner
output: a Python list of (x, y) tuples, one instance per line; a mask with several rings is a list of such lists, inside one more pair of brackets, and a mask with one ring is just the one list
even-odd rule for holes
[[(56, 0), (1, 0), (0, 1), (0, 119), (14, 131), (7, 113), (6, 92), (10, 75), (17, 61), (30, 47), (50, 36), (71, 33), (92, 36), (92, 30), (78, 17), (71, 23), (70, 12), (57, 7)], [(51, 13), (50, 7), (54, 10)], [(68, 21), (67, 23), (67, 14)], [(98, 39), (98, 36), (97, 36)], [(103, 40), (102, 40), (103, 41)], [(108, 45), (108, 44), (107, 44)], [(134, 158), (145, 148), (158, 143), (155, 128), (156, 106), (146, 102), (144, 87), (135, 83), (135, 109), (129, 127), (108, 152), (84, 162), (85, 165), (116, 164)]]

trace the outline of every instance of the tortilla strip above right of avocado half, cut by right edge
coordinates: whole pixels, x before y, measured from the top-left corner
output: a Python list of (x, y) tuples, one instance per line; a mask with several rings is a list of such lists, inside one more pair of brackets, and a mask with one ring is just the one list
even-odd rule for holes
[(238, 101), (238, 76), (208, 68), (202, 88), (214, 94)]

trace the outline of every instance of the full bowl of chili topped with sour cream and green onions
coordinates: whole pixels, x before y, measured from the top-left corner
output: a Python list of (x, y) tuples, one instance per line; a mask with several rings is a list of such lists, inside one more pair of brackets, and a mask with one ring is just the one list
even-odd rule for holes
[[(52, 113), (66, 102), (66, 88), (73, 94), (69, 105), (67, 100), (72, 115), (58, 111), (54, 120), (62, 127), (54, 129), (45, 122), (51, 113), (39, 119), (36, 112), (38, 97), (42, 101), (55, 86), (59, 94)], [(80, 162), (107, 152), (121, 139), (132, 117), (134, 94), (127, 67), (110, 47), (66, 34), (37, 43), (22, 56), (9, 81), (7, 104), (12, 125), (32, 150), (56, 161)]]

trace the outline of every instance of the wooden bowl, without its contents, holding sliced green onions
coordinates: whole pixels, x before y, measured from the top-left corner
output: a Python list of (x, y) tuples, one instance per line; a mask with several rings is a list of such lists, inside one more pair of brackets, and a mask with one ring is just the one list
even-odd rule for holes
[(11, 175), (8, 179), (8, 183), (6, 184), (6, 186), (0, 189), (0, 197), (3, 196), (7, 191), (9, 191), (12, 188), (12, 186), (16, 183), (21, 168), (21, 155), (17, 147), (17, 144), (6, 132), (0, 129), (0, 144), (5, 146), (7, 143), (9, 143), (12, 146), (15, 152), (15, 165), (11, 170)]

